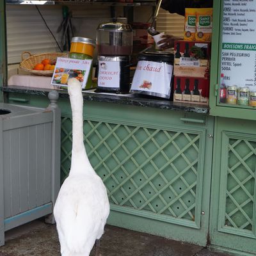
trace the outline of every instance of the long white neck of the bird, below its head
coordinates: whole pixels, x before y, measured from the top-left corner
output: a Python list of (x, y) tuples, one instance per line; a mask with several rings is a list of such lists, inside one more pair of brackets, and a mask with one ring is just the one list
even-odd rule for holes
[[(72, 108), (72, 158), (70, 174), (90, 172), (92, 169), (83, 142), (83, 95), (81, 89), (70, 92)], [(88, 168), (87, 168), (88, 167)]]

